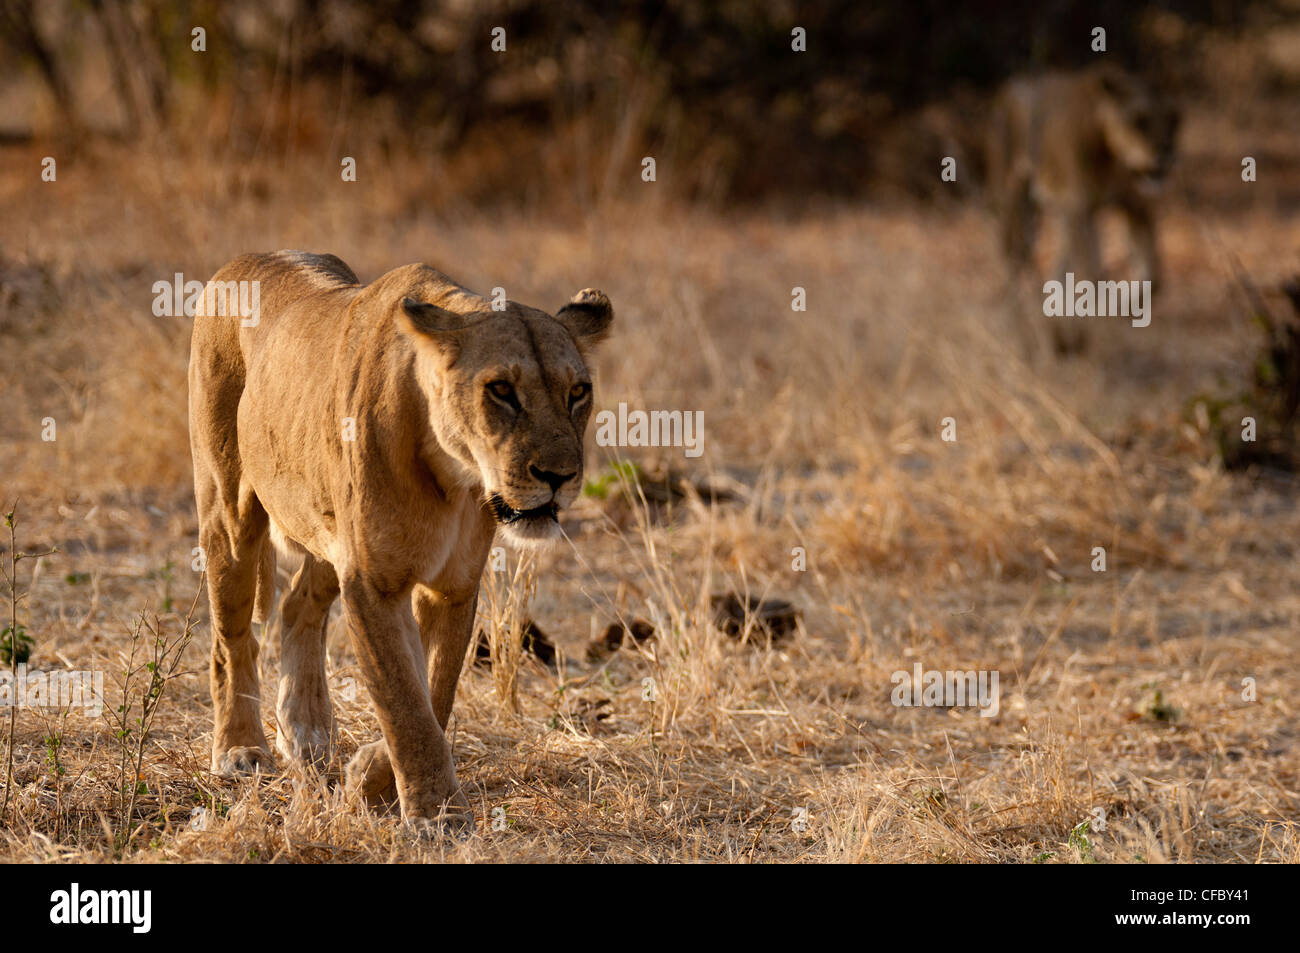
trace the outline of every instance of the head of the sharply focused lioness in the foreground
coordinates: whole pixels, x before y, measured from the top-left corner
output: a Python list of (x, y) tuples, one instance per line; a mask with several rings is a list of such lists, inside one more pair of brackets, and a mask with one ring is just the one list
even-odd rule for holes
[(585, 354), (610, 329), (610, 299), (586, 289), (552, 317), (516, 302), (493, 311), (448, 285), (406, 295), (400, 313), (438, 442), (514, 541), (558, 538), (559, 510), (582, 486)]

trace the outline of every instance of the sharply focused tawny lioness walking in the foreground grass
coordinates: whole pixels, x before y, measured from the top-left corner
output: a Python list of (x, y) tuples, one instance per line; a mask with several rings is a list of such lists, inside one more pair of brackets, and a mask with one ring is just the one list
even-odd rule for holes
[(282, 607), (277, 749), (329, 758), (325, 625), (342, 594), (384, 732), (348, 784), (395, 794), (408, 820), (467, 822), (443, 729), (478, 579), (498, 528), (524, 545), (560, 532), (582, 480), (585, 355), (610, 329), (610, 300), (585, 290), (554, 317), (493, 311), (428, 265), (363, 286), (333, 255), (296, 251), (244, 255), (218, 282), (259, 282), (260, 313), (196, 315), (190, 351), (212, 770), (270, 762), (250, 623), (265, 620), (287, 549), (303, 563)]

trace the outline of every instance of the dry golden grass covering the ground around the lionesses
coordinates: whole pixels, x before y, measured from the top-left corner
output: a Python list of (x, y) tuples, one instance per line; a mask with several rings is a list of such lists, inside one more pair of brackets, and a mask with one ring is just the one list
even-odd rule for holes
[[(1187, 151), (1218, 135), (1193, 117)], [(146, 608), (179, 631), (199, 584), (188, 326), (152, 316), (151, 286), (244, 251), (330, 251), (364, 280), (422, 259), (552, 308), (597, 285), (618, 311), (598, 403), (705, 415), (698, 460), (637, 459), (744, 493), (656, 519), (618, 493), (584, 499), (572, 546), (526, 579), (512, 554), (490, 581), (489, 624), (526, 612), (564, 658), (558, 673), (467, 668), (452, 728), (478, 814), (465, 842), (412, 840), (332, 779), (211, 777), (200, 599), (126, 848), (108, 720), (21, 711), (0, 859), (1300, 861), (1297, 488), (1225, 473), (1183, 416), (1249, 361), (1226, 250), (1265, 287), (1295, 270), (1277, 203), (1202, 216), (1171, 200), (1152, 326), (1101, 324), (1087, 360), (1035, 365), (975, 208), (723, 216), (651, 191), (568, 217), (433, 216), (411, 199), (410, 160), (369, 159), (344, 185), (324, 160), (101, 146), (56, 185), (13, 172), (42, 153), (10, 151), (0, 179), (0, 501), (20, 501), (22, 549), (58, 549), (20, 608), (34, 667), (120, 671)], [(608, 451), (592, 454), (595, 473)], [(727, 640), (707, 620), (724, 589), (792, 599), (798, 637)], [(653, 620), (653, 647), (585, 662), (619, 616)], [(377, 725), (337, 620), (329, 647), (346, 758)], [(273, 638), (263, 658), (265, 685)], [(997, 670), (1000, 714), (894, 707), (889, 675), (914, 662)], [(1144, 714), (1157, 690), (1173, 720)], [(1095, 809), (1105, 829), (1071, 836)]]

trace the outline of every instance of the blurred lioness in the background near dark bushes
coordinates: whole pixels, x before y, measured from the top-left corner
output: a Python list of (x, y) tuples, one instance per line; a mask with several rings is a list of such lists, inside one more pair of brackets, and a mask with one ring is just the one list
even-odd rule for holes
[[(1160, 282), (1153, 199), (1174, 160), (1178, 111), (1109, 64), (1017, 78), (998, 94), (987, 139), (989, 195), (1013, 281), (1030, 269), (1040, 213), (1058, 229), (1052, 277), (1098, 280), (1097, 213), (1123, 213), (1139, 281)], [(1032, 270), (1032, 269), (1030, 269)], [(1053, 325), (1058, 351), (1082, 348), (1082, 328)]]

